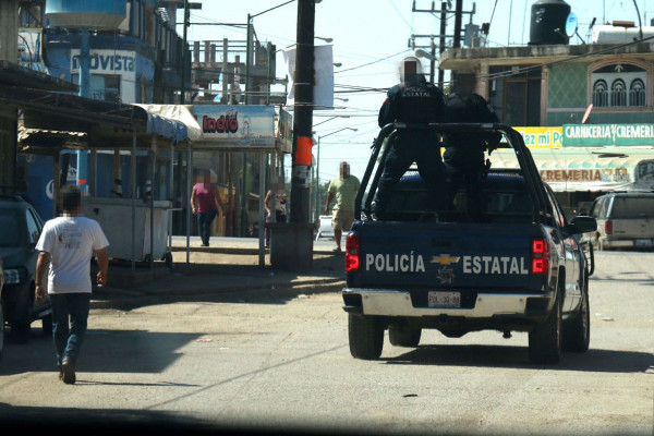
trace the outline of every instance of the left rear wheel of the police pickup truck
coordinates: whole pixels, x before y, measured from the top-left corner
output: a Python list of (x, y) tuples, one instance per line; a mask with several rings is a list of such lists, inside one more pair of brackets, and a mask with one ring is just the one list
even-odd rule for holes
[(372, 316), (349, 314), (350, 354), (366, 361), (379, 359), (384, 348), (384, 325)]

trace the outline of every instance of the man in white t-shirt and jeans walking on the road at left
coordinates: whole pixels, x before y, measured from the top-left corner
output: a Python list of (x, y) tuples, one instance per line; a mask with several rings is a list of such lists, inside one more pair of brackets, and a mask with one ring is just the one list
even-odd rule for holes
[(90, 257), (95, 252), (100, 268), (97, 282), (102, 287), (107, 284), (109, 242), (97, 221), (80, 216), (82, 196), (77, 186), (61, 187), (59, 201), (63, 216), (46, 222), (36, 244), (40, 253), (36, 263), (35, 298), (37, 302), (46, 298), (41, 279), (49, 264), (48, 293), (52, 303), (59, 379), (72, 385), (90, 306)]

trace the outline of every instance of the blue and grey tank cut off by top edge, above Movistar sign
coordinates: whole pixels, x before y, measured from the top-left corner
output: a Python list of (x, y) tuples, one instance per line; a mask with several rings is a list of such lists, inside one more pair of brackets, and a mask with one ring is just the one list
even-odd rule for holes
[(118, 28), (125, 19), (125, 0), (48, 0), (46, 17), (52, 27)]

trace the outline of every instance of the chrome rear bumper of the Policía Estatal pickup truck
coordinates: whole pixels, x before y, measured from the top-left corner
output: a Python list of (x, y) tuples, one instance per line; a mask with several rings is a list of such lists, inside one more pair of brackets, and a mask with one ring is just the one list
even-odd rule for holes
[(351, 289), (342, 291), (346, 312), (377, 316), (459, 316), (491, 318), (494, 316), (542, 317), (554, 296), (544, 293), (479, 293), (472, 308), (415, 307), (405, 291)]

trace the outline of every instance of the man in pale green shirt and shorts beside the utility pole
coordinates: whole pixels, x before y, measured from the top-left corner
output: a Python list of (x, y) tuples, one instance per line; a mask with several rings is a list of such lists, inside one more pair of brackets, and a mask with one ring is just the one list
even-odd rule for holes
[(327, 203), (325, 204), (325, 215), (329, 214), (329, 204), (335, 201), (331, 227), (334, 228), (334, 239), (336, 239), (335, 253), (341, 252), (341, 237), (343, 230), (350, 231), (354, 221), (354, 201), (361, 182), (354, 175), (350, 174), (350, 165), (346, 161), (340, 164), (340, 177), (334, 179), (327, 189)]

